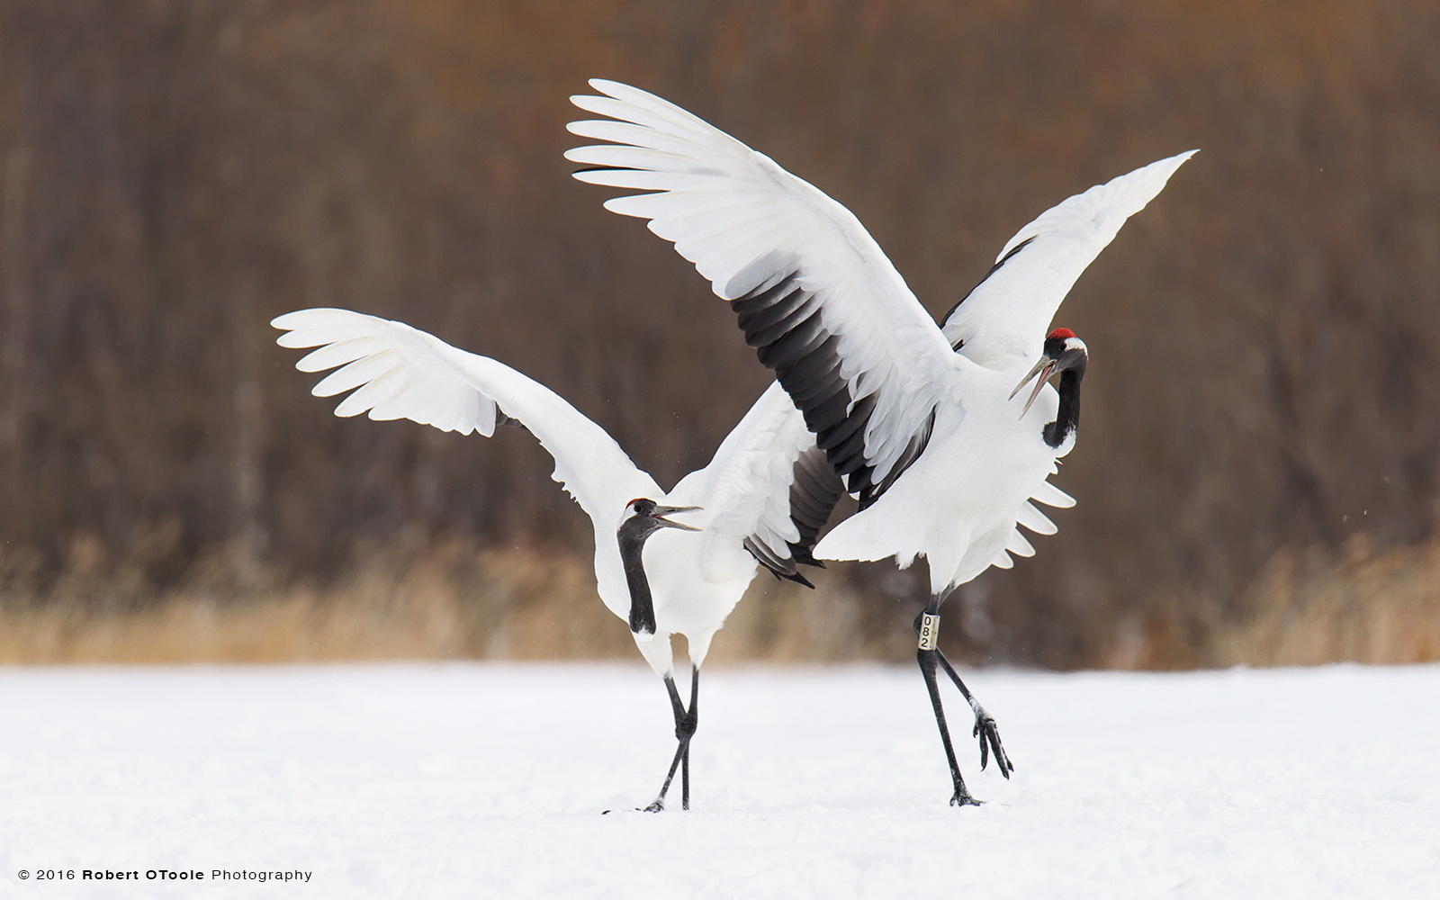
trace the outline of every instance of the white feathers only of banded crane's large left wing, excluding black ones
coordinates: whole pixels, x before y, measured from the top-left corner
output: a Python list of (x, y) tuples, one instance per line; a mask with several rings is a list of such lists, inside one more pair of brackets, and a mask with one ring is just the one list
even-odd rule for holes
[(657, 192), (605, 207), (649, 219), (649, 230), (675, 242), (723, 300), (791, 274), (778, 265), (793, 266), (840, 338), (851, 402), (874, 393), (886, 413), (865, 431), (874, 482), (884, 481), (959, 364), (894, 265), (850, 210), (769, 157), (638, 88), (600, 79), (590, 86), (609, 96), (572, 102), (612, 120), (567, 128), (615, 143), (569, 150), (570, 161), (605, 167), (575, 177)]

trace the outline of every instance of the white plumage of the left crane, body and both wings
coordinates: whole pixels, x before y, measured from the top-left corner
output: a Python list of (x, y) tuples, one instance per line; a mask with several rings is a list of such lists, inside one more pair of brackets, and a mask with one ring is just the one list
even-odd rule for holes
[(698, 667), (744, 595), (757, 564), (742, 541), (750, 537), (786, 557), (786, 541), (799, 539), (789, 488), (795, 461), (815, 441), (778, 383), (721, 442), (710, 465), (667, 492), (605, 429), (544, 384), (492, 359), (403, 323), (347, 310), (301, 310), (271, 324), (287, 330), (281, 346), (320, 347), (297, 363), (302, 372), (340, 366), (312, 390), (334, 396), (354, 389), (336, 409), (338, 416), (369, 410), (372, 419), (403, 418), (487, 438), (501, 412), (518, 419), (554, 456), (554, 480), (589, 514), (596, 590), (621, 619), (631, 609), (616, 541), (625, 505), (648, 497), (664, 505), (703, 507), (675, 518), (701, 531), (662, 528), (644, 547), (657, 631), (635, 634), (635, 642), (662, 677), (674, 667), (670, 635), (685, 636), (690, 661)]

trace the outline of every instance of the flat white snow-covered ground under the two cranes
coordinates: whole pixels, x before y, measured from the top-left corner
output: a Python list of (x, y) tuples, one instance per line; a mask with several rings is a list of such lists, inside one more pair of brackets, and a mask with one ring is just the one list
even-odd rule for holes
[(1440, 667), (966, 678), (985, 806), (913, 668), (716, 667), (694, 811), (600, 815), (674, 749), (639, 667), (4, 670), (0, 896), (1440, 896)]

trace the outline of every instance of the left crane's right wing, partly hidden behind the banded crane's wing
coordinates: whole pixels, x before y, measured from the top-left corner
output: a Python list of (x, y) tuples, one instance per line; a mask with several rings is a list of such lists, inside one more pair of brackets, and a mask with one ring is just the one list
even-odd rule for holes
[(814, 586), (796, 563), (821, 564), (811, 550), (842, 492), (795, 403), (772, 383), (710, 465), (683, 478), (670, 500), (704, 507), (703, 560), (740, 543), (776, 577)]

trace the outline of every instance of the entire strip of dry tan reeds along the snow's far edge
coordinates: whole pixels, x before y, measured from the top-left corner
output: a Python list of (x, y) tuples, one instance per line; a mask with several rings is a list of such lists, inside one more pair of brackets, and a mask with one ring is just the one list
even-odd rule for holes
[[(0, 664), (634, 658), (625, 624), (595, 595), (589, 559), (572, 550), (399, 540), (317, 583), (236, 543), (161, 588), (154, 557), (166, 546), (164, 533), (143, 533), (114, 556), (82, 537), (49, 577), (33, 554), (0, 549)], [(814, 592), (757, 577), (710, 660), (909, 660), (912, 605), (874, 600), (848, 575), (816, 573)], [(1159, 598), (1081, 664), (1440, 660), (1440, 543), (1284, 552), (1224, 608)]]

